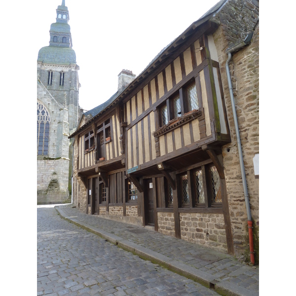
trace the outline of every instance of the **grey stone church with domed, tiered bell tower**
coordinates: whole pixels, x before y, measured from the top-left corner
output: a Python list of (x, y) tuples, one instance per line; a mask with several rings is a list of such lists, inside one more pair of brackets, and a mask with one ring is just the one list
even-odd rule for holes
[(56, 9), (49, 45), (37, 58), (37, 204), (63, 203), (71, 193), (69, 135), (80, 114), (79, 66), (65, 0)]

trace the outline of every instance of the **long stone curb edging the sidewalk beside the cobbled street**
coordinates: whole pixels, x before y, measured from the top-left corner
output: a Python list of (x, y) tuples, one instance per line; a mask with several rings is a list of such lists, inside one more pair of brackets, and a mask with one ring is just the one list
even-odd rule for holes
[(158, 264), (164, 268), (167, 268), (170, 271), (185, 276), (188, 279), (191, 279), (211, 290), (216, 291), (218, 294), (222, 296), (254, 296), (254, 292), (246, 288), (240, 287), (228, 281), (219, 282), (215, 280), (216, 277), (212, 274), (198, 270), (193, 266), (187, 265), (177, 260), (173, 260), (162, 254), (149, 250), (145, 247), (139, 246), (117, 235), (108, 233), (102, 229), (81, 222), (75, 219), (74, 217), (67, 217), (65, 212), (61, 208), (59, 208), (59, 206), (55, 206), (54, 208), (61, 216), (61, 218), (63, 218), (64, 220), (74, 223), (76, 226), (98, 235), (106, 241), (116, 245), (117, 247), (125, 251), (133, 253), (134, 255), (137, 255), (142, 259), (151, 261), (152, 263)]

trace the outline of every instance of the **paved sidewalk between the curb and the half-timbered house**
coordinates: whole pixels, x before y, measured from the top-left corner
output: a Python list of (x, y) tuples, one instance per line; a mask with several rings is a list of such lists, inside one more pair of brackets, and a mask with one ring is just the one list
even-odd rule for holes
[(252, 267), (243, 264), (227, 254), (163, 235), (141, 226), (116, 222), (96, 215), (86, 215), (72, 205), (64, 205), (59, 208), (67, 216), (80, 222), (115, 234), (125, 240), (210, 274), (215, 277), (216, 281), (223, 283), (225, 287), (230, 287), (230, 290), (233, 287), (238, 289), (237, 295), (259, 295), (259, 266)]

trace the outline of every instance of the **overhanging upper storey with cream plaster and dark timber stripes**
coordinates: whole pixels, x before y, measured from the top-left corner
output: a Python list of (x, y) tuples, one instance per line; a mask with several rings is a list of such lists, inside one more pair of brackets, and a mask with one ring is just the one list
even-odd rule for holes
[[(212, 35), (219, 27), (213, 15), (225, 2), (220, 1), (189, 26), (127, 87), (95, 108), (92, 118), (71, 137), (79, 135), (84, 148), (91, 134), (99, 143), (96, 129), (110, 120), (114, 148), (106, 150), (106, 160), (121, 158), (127, 174), (141, 171), (142, 175), (156, 173), (159, 163), (178, 170), (202, 162), (209, 159), (203, 145), (219, 148), (229, 143), (220, 65)], [(107, 144), (106, 138), (105, 129), (102, 143)], [(83, 153), (84, 148), (81, 146)], [(94, 150), (98, 151), (97, 145)], [(90, 162), (81, 162), (79, 169), (104, 166), (98, 162), (98, 155), (90, 157)]]

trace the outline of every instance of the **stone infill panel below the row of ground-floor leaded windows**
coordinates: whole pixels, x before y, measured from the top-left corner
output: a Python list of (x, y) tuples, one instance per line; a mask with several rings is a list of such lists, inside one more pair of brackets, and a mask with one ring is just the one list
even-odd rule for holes
[(223, 214), (180, 213), (181, 238), (227, 253)]

